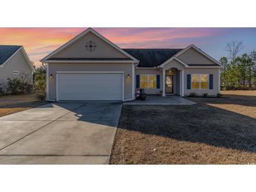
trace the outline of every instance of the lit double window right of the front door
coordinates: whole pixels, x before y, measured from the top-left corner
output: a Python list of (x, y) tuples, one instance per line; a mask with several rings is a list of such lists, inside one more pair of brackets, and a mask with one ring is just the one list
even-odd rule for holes
[(208, 89), (209, 74), (191, 74), (191, 89)]

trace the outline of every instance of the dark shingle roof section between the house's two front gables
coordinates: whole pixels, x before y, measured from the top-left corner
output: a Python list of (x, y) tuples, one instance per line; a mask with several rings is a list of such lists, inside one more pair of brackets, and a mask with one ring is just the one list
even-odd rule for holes
[(138, 67), (157, 67), (182, 49), (124, 48), (123, 50), (140, 60)]

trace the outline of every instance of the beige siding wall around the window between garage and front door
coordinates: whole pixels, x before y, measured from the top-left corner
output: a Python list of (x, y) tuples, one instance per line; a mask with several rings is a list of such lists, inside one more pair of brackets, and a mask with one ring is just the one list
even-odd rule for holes
[(163, 90), (163, 73), (162, 71), (159, 71), (159, 69), (138, 69), (135, 68), (135, 88), (136, 88), (136, 75), (142, 75), (142, 74), (155, 74), (160, 75), (160, 89), (145, 89), (145, 93), (147, 94), (161, 94), (161, 90)]

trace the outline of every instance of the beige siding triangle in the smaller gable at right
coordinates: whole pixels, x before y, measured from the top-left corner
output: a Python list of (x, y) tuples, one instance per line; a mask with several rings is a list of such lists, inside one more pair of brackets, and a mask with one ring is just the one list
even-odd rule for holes
[(215, 64), (212, 60), (208, 59), (205, 55), (202, 55), (194, 48), (189, 48), (181, 55), (177, 56), (182, 62), (186, 64)]

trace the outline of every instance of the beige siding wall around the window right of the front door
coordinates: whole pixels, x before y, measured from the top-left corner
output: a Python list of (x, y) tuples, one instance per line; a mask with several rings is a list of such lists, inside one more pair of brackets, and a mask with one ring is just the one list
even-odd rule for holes
[[(187, 74), (213, 74), (213, 89), (212, 90), (188, 90), (187, 89)], [(184, 95), (189, 95), (191, 92), (196, 92), (197, 95), (217, 95), (219, 92), (219, 69), (205, 68), (205, 69), (189, 69), (186, 68), (184, 71)]]

